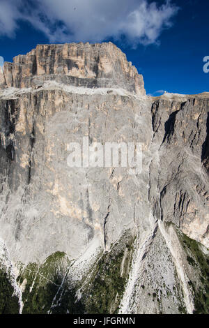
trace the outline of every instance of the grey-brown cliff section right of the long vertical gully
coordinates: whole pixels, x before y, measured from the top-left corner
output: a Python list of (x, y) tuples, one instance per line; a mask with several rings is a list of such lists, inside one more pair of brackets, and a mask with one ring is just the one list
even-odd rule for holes
[[(159, 171), (151, 167), (151, 190), (157, 184), (164, 221), (172, 221), (189, 237), (209, 246), (207, 94), (166, 96), (152, 105), (153, 143), (159, 144)], [(205, 169), (206, 167), (206, 169)], [(154, 181), (157, 181), (156, 184)]]

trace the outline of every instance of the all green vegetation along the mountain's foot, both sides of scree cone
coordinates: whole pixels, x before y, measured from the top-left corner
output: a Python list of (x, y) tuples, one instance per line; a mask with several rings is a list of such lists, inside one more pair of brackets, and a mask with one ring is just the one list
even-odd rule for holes
[[(209, 313), (208, 255), (203, 253), (201, 244), (178, 228), (176, 231), (188, 263), (188, 285), (194, 295), (194, 313)], [(133, 244), (134, 239), (125, 234), (109, 252), (100, 254), (98, 261), (77, 285), (71, 285), (65, 278), (71, 265), (65, 253), (50, 255), (40, 266), (36, 263), (26, 267), (20, 264), (17, 282), (23, 288), (23, 313), (117, 313), (130, 272)], [(141, 285), (141, 289), (145, 286)], [(79, 299), (77, 290), (80, 290)], [(167, 297), (172, 293), (176, 297), (179, 295), (178, 311), (186, 313), (180, 285), (173, 286), (172, 292), (167, 289)], [(162, 311), (158, 290), (148, 293), (148, 297), (156, 299)], [(19, 308), (10, 276), (0, 269), (0, 313), (19, 313)]]

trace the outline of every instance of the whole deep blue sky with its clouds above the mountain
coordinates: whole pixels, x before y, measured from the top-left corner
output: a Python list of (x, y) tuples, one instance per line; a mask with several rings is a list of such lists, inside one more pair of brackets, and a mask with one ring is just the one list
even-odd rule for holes
[(209, 91), (209, 1), (155, 2), (0, 0), (0, 57), (12, 61), (38, 43), (111, 40), (144, 75), (148, 94)]

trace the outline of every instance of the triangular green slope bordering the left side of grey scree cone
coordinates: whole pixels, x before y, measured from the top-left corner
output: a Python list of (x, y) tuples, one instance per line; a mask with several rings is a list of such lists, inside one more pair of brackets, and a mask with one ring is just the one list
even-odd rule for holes
[[(124, 237), (123, 237), (124, 238)], [(132, 261), (133, 239), (123, 238), (104, 253), (84, 290), (86, 313), (116, 313), (125, 290)], [(123, 263), (123, 269), (122, 269)], [(123, 271), (123, 274), (121, 274)]]

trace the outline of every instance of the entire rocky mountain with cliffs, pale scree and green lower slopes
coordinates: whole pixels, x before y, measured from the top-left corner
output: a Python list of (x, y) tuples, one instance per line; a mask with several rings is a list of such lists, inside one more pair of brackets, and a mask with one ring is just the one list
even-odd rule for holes
[[(208, 313), (208, 94), (146, 96), (112, 43), (38, 45), (0, 78), (2, 312)], [(83, 137), (141, 143), (142, 172), (68, 167)]]

